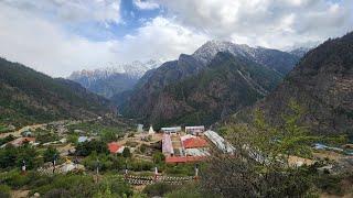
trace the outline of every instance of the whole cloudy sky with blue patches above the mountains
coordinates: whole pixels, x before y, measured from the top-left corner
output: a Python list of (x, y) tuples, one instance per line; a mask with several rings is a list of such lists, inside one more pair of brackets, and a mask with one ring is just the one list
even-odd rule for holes
[(53, 77), (210, 40), (287, 51), (350, 31), (352, 0), (0, 0), (0, 56)]

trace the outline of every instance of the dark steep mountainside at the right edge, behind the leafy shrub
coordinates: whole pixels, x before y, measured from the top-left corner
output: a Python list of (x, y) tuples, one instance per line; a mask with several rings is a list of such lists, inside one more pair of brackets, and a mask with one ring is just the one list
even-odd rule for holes
[(290, 100), (304, 109), (302, 122), (310, 131), (353, 134), (353, 33), (309, 51), (278, 88), (254, 108), (279, 124)]

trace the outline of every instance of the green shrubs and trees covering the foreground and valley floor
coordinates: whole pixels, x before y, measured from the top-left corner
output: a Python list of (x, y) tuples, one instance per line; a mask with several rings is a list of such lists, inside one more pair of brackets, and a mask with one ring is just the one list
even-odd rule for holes
[[(255, 112), (254, 124), (226, 125), (220, 132), (227, 136), (235, 147), (234, 154), (212, 151), (205, 163), (199, 163), (200, 178), (183, 185), (156, 183), (145, 188), (135, 188), (124, 180), (125, 168), (129, 175), (153, 176), (154, 167), (165, 176), (193, 176), (195, 164), (171, 165), (164, 163), (164, 155), (158, 145), (137, 147), (137, 142), (127, 142), (121, 154), (110, 154), (107, 143), (133, 138), (128, 127), (115, 127), (101, 122), (77, 122), (67, 124), (64, 132), (55, 127), (36, 129), (32, 134), (41, 144), (21, 146), (11, 144), (0, 150), (0, 197), (14, 191), (29, 190), (29, 196), (42, 197), (319, 197), (319, 195), (352, 194), (352, 172), (334, 174), (318, 170), (328, 161), (296, 165), (291, 156), (312, 158), (313, 142), (329, 144), (346, 143), (346, 136), (317, 136), (300, 124), (303, 109), (290, 103), (290, 113), (284, 116), (285, 124), (272, 127), (265, 121), (260, 111)], [(55, 125), (55, 124), (54, 124)], [(60, 125), (58, 128), (62, 128)], [(78, 142), (79, 135), (93, 136), (90, 141)], [(75, 150), (65, 156), (56, 147), (60, 140)], [(0, 143), (14, 140), (9, 135)], [(54, 144), (44, 145), (44, 143)], [(130, 147), (129, 147), (130, 146)], [(156, 147), (157, 146), (157, 147)], [(135, 148), (135, 153), (131, 152)], [(148, 152), (147, 152), (148, 151)], [(149, 158), (139, 158), (150, 153)], [(85, 168), (67, 174), (39, 170), (51, 167), (53, 160), (61, 165), (67, 160), (78, 158)], [(25, 163), (26, 172), (20, 170)], [(97, 169), (99, 174), (97, 175)], [(351, 191), (350, 191), (351, 190)]]

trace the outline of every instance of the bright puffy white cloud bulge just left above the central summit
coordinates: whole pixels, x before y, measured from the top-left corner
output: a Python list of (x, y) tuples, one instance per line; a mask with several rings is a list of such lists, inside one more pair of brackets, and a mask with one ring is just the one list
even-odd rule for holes
[(176, 58), (193, 53), (210, 37), (186, 29), (171, 19), (158, 16), (124, 37), (115, 52), (126, 59)]

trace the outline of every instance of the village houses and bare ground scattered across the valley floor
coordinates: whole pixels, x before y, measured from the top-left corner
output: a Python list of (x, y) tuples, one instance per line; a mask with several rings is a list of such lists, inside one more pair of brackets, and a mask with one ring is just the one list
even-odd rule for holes
[[(118, 157), (117, 161), (111, 161), (119, 164), (111, 169), (113, 174), (121, 175), (126, 182), (136, 186), (136, 189), (157, 182), (184, 184), (195, 180), (199, 177), (199, 166), (214, 152), (225, 155), (233, 155), (235, 152), (235, 147), (228, 141), (204, 125), (165, 127), (154, 131), (152, 125), (143, 128), (142, 124), (130, 123), (119, 132), (113, 132), (111, 139), (104, 140), (101, 134), (105, 131), (104, 127), (101, 128), (104, 119), (99, 117), (89, 121), (58, 121), (1, 133), (0, 139), (7, 138), (8, 141), (2, 142), (0, 148), (28, 144), (41, 153), (54, 150), (56, 152), (52, 153), (53, 156), (49, 156), (50, 160), (38, 167), (36, 172), (44, 175), (82, 172), (98, 179), (100, 173), (111, 169), (114, 164), (107, 165), (106, 162), (100, 162), (99, 155), (85, 154), (86, 151), (82, 151), (94, 144), (100, 147), (98, 150), (110, 153), (110, 157)], [(83, 128), (87, 123), (89, 128)], [(97, 123), (100, 127), (94, 127), (92, 130)], [(43, 138), (43, 132), (49, 134)], [(312, 158), (291, 156), (290, 164), (298, 167), (320, 163), (318, 169), (330, 174), (353, 167), (351, 144), (334, 147), (317, 143), (312, 148), (314, 150)], [(98, 150), (93, 150), (99, 154)], [(25, 161), (21, 163), (22, 172), (26, 172), (28, 163)]]

